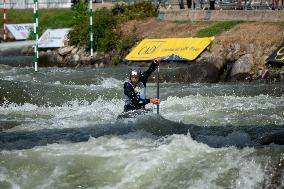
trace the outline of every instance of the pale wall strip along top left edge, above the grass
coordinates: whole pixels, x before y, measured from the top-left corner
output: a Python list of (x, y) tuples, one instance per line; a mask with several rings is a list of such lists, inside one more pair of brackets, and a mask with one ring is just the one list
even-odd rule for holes
[[(0, 8), (3, 8), (4, 0), (0, 0)], [(6, 0), (7, 9), (33, 8), (34, 0)], [(38, 7), (41, 8), (69, 8), (71, 0), (38, 0)]]

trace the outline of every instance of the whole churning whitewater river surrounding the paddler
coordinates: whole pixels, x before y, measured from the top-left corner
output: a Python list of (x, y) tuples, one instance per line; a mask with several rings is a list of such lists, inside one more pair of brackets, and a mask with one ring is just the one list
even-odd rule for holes
[(284, 188), (283, 82), (161, 83), (116, 120), (127, 73), (0, 65), (0, 188)]

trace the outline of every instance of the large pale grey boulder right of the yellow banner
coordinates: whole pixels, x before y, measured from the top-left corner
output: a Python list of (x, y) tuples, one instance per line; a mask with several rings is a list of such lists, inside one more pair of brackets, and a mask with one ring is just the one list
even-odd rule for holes
[(234, 77), (238, 74), (250, 73), (253, 65), (253, 57), (251, 54), (246, 54), (239, 58), (234, 64), (230, 72), (230, 77)]

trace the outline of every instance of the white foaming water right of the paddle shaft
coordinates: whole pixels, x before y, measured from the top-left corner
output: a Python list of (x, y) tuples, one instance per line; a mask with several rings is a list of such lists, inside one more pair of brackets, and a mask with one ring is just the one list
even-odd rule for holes
[[(200, 96), (168, 97), (162, 115), (170, 120), (202, 126), (283, 124), (284, 97)], [(278, 109), (279, 111), (276, 111)]]

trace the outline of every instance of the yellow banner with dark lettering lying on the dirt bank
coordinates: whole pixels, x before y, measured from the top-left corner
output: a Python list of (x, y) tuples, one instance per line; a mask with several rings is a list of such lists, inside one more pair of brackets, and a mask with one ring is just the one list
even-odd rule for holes
[(213, 40), (214, 37), (144, 39), (125, 59), (153, 60), (176, 55), (187, 60), (194, 60)]

